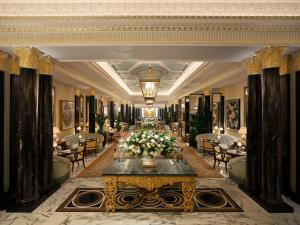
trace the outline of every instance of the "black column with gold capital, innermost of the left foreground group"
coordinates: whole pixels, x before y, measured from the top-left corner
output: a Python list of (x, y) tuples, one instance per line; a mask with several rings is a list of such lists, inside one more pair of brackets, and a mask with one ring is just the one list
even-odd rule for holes
[(38, 96), (38, 185), (40, 193), (48, 192), (53, 186), (53, 69), (54, 61), (50, 56), (40, 58)]

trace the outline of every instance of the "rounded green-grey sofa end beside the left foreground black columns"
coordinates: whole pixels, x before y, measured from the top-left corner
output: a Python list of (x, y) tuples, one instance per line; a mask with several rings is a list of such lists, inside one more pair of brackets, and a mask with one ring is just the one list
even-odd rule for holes
[(53, 181), (55, 185), (60, 185), (70, 177), (70, 160), (61, 156), (53, 156)]

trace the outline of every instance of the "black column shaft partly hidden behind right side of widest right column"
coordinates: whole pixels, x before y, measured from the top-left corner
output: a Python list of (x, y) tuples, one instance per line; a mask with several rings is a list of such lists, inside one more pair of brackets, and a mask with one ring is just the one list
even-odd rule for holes
[(286, 196), (291, 195), (291, 171), (290, 171), (290, 151), (291, 151), (291, 132), (290, 132), (290, 75), (280, 76), (280, 158), (282, 159), (282, 170), (280, 180), (282, 193)]

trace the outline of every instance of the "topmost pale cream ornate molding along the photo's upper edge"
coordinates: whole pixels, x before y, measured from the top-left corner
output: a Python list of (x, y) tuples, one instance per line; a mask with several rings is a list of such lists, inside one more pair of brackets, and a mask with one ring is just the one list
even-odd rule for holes
[(293, 0), (2, 0), (2, 16), (299, 16)]

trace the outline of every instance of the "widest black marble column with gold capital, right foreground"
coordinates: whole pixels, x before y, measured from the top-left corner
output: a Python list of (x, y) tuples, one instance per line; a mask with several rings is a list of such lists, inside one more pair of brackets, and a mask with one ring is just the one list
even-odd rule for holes
[(280, 77), (279, 67), (284, 48), (268, 47), (262, 57), (262, 192), (268, 205), (283, 203), (280, 171)]

